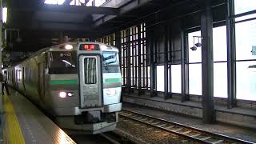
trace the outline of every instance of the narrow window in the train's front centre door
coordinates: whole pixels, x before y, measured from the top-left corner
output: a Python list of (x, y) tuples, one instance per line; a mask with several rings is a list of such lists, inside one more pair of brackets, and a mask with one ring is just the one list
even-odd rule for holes
[(97, 71), (96, 71), (96, 58), (85, 58), (85, 83), (96, 84), (97, 83)]

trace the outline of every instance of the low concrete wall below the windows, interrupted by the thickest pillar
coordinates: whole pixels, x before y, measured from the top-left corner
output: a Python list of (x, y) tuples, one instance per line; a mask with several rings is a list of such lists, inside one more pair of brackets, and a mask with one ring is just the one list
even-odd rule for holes
[[(161, 97), (149, 98), (146, 96), (137, 97), (128, 95), (123, 95), (122, 101), (159, 110), (167, 110), (176, 114), (202, 118), (202, 106), (200, 102), (180, 102), (180, 100), (175, 99), (164, 100)], [(215, 112), (216, 122), (256, 129), (256, 113), (254, 110), (241, 108), (227, 109), (224, 106), (216, 106)]]

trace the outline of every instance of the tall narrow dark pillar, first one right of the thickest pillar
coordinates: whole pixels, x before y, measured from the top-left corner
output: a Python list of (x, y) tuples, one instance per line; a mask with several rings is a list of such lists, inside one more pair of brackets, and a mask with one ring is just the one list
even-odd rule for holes
[(227, 0), (226, 18), (226, 44), (227, 44), (227, 107), (230, 109), (237, 105), (236, 102), (236, 65), (235, 65), (235, 26), (234, 0)]

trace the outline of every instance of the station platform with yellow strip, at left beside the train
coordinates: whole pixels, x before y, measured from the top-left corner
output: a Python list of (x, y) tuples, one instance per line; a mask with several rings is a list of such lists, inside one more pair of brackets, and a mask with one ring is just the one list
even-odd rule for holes
[(17, 91), (10, 90), (10, 95), (3, 95), (3, 107), (2, 142), (0, 143), (75, 143), (50, 118), (47, 118)]

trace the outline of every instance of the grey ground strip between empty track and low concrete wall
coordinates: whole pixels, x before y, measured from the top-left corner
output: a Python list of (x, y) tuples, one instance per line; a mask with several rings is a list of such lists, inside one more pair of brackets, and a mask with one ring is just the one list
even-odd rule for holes
[(192, 118), (180, 114), (173, 114), (169, 111), (158, 110), (146, 106), (138, 106), (130, 103), (123, 103), (124, 109), (134, 110), (139, 113), (148, 114), (157, 118), (163, 118), (172, 122), (179, 122), (187, 126), (194, 126), (196, 128), (207, 130), (210, 132), (228, 135), (230, 137), (240, 138), (246, 141), (256, 143), (256, 130), (250, 130), (238, 126), (230, 126), (223, 123), (206, 124), (200, 118)]

